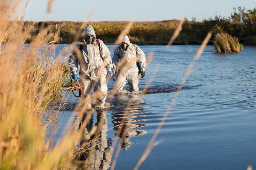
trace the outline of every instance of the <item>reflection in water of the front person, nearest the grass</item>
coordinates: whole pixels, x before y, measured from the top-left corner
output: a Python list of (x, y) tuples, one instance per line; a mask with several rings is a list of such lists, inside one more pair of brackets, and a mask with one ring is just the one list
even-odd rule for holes
[[(110, 145), (111, 139), (107, 140), (108, 121), (106, 115), (104, 112), (97, 113), (96, 130), (94, 135), (90, 137), (90, 132), (93, 129), (93, 117), (88, 114), (84, 114), (82, 118), (82, 122), (84, 122), (86, 116), (89, 116), (83, 139), (80, 142), (80, 146), (84, 147), (84, 151), (77, 159), (85, 160), (85, 169), (108, 169), (112, 157), (112, 147)], [(81, 124), (79, 128), (81, 128)]]

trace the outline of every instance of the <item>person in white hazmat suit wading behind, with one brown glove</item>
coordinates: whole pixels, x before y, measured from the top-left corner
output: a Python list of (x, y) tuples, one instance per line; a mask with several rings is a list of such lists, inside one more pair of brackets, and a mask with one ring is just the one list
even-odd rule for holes
[[(137, 61), (139, 64), (137, 64)], [(123, 42), (116, 47), (112, 57), (113, 80), (116, 81), (117, 90), (122, 90), (128, 81), (130, 90), (139, 91), (139, 73), (141, 78), (145, 76), (146, 56), (139, 46), (130, 43), (127, 35), (124, 35)], [(116, 69), (118, 73), (116, 77)], [(139, 72), (139, 69), (141, 70)]]

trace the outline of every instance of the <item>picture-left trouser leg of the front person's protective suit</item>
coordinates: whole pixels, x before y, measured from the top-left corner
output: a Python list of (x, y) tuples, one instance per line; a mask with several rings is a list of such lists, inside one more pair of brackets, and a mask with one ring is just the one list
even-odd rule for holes
[(82, 86), (82, 101), (88, 103), (88, 109), (91, 109), (91, 95), (92, 95), (92, 81), (88, 79), (80, 79), (80, 85)]

